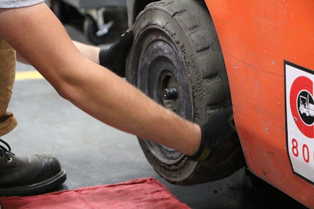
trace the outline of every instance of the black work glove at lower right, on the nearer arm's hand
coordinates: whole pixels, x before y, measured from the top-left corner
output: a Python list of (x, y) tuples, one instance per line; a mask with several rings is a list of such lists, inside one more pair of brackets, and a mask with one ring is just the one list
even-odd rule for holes
[(202, 139), (198, 151), (191, 157), (193, 160), (204, 161), (212, 150), (226, 143), (230, 137), (237, 137), (232, 107), (228, 107), (209, 118), (201, 126)]

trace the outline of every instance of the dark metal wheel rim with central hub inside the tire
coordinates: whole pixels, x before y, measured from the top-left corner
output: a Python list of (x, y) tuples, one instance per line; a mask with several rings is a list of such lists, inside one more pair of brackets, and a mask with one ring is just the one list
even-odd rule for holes
[[(143, 30), (138, 47), (137, 87), (157, 103), (192, 120), (192, 89), (183, 58), (173, 40), (157, 26)], [(176, 164), (181, 152), (145, 140), (150, 152), (161, 162)]]

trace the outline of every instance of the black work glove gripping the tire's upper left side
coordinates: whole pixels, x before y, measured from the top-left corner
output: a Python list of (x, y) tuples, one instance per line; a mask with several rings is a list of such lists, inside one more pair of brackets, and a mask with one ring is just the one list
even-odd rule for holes
[(133, 31), (127, 30), (109, 49), (101, 49), (99, 64), (110, 69), (121, 77), (125, 77), (125, 60), (128, 49), (133, 43)]

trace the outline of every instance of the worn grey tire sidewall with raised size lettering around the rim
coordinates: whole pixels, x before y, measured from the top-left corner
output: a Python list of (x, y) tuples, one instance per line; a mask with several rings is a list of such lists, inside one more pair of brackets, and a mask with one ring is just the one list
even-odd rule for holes
[[(203, 97), (204, 91), (202, 80), (200, 79), (202, 77), (202, 72), (198, 68), (196, 55), (190, 45), (187, 35), (166, 10), (160, 8), (147, 8), (138, 15), (132, 28), (134, 32), (134, 42), (131, 50), (132, 53), (130, 53), (127, 58), (127, 81), (137, 86), (137, 72), (135, 71), (137, 68), (137, 52), (140, 50), (138, 42), (141, 41), (138, 40), (138, 37), (145, 28), (152, 25), (162, 29), (173, 40), (177, 49), (181, 52), (182, 60), (184, 60), (184, 65), (186, 66), (185, 69), (182, 70), (186, 71), (191, 83), (193, 122), (202, 124), (205, 121), (205, 98)], [(146, 158), (156, 172), (171, 183), (180, 184), (181, 181), (188, 179), (198, 165), (197, 161), (193, 161), (188, 157), (182, 159), (177, 165), (166, 165), (154, 157), (143, 139), (139, 138), (139, 143)]]

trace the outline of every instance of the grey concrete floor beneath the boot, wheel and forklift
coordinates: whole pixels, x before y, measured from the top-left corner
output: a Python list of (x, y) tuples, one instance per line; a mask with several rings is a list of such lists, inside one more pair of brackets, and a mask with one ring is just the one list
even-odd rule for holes
[[(81, 26), (65, 27), (72, 39), (89, 43)], [(17, 64), (17, 71), (29, 70), (34, 68)], [(19, 155), (57, 156), (68, 176), (58, 190), (152, 176), (192, 208), (302, 208), (272, 186), (252, 186), (245, 168), (215, 182), (171, 185), (154, 172), (135, 136), (82, 112), (62, 99), (45, 80), (16, 81), (8, 110), (14, 112), (19, 125), (3, 139)]]

